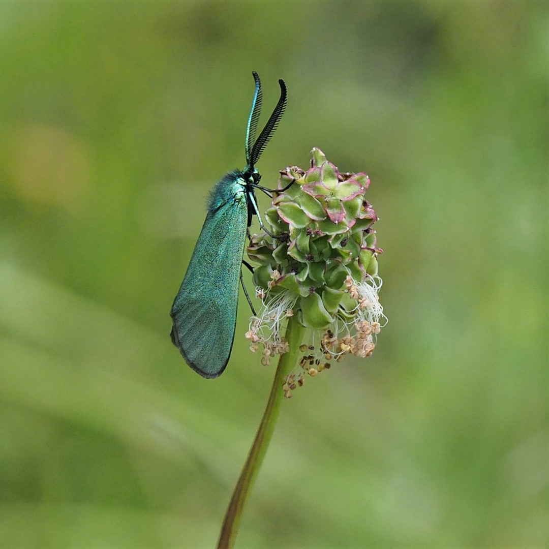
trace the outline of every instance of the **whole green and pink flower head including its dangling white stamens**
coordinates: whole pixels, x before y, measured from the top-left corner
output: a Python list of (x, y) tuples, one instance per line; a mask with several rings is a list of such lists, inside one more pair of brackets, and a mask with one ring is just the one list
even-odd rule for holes
[(288, 350), (282, 337), (284, 318), (297, 316), (310, 330), (300, 347), (299, 367), (285, 379), (284, 394), (292, 396), (305, 377), (339, 362), (346, 354), (370, 356), (386, 317), (379, 303), (376, 212), (365, 198), (366, 173), (340, 173), (324, 153), (312, 150), (311, 167), (281, 171), (279, 193), (266, 211), (272, 238), (256, 234), (247, 249), (261, 310), (250, 320), (246, 337), (268, 365)]

